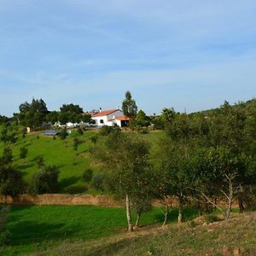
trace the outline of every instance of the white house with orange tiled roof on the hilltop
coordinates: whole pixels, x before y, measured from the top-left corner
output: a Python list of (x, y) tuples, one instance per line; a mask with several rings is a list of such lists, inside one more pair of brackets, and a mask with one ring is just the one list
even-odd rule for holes
[(123, 111), (120, 109), (102, 110), (98, 113), (94, 113), (91, 119), (95, 121), (96, 126), (114, 126), (119, 127), (127, 126), (129, 123), (129, 117), (125, 116)]

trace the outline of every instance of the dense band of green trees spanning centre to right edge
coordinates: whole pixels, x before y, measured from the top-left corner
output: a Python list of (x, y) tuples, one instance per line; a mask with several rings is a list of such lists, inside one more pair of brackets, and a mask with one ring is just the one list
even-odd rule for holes
[[(141, 137), (113, 128), (91, 150), (102, 166), (105, 187), (125, 198), (129, 230), (133, 229), (131, 207), (138, 225), (155, 198), (166, 207), (164, 224), (173, 197), (179, 222), (187, 204), (201, 213), (218, 209), (225, 219), (230, 218), (235, 200), (241, 212), (255, 207), (255, 100), (235, 106), (224, 102), (208, 113), (164, 109), (160, 118), (165, 137), (151, 148)], [(225, 201), (225, 207), (218, 201)]]

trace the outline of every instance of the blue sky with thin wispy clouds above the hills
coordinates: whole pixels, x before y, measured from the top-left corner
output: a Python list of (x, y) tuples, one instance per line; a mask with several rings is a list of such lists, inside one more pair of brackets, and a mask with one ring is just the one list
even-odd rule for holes
[(0, 0), (0, 114), (188, 113), (256, 96), (255, 0)]

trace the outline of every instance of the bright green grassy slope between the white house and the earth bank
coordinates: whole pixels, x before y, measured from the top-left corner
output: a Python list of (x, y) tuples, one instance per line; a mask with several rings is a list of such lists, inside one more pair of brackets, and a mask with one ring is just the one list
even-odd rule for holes
[[(1, 130), (1, 127), (0, 127)], [(14, 164), (18, 170), (23, 173), (26, 182), (29, 182), (32, 173), (38, 171), (37, 160), (40, 155), (44, 157), (46, 164), (56, 165), (60, 168), (59, 176), (59, 192), (78, 194), (90, 193), (96, 194), (93, 189), (87, 190), (86, 183), (82, 181), (82, 173), (87, 168), (92, 167), (96, 172), (96, 168), (91, 166), (91, 158), (89, 149), (91, 147), (90, 137), (95, 135), (96, 131), (85, 131), (80, 136), (77, 131), (62, 141), (59, 137), (53, 140), (52, 137), (43, 137), (41, 133), (27, 135), (25, 138), (19, 137), (15, 145), (9, 145), (13, 149)], [(39, 138), (38, 138), (39, 135)], [(140, 134), (149, 143), (156, 143), (162, 133), (153, 132), (148, 134)], [(79, 145), (79, 149), (73, 149), (73, 138), (79, 137), (84, 143)], [(20, 148), (26, 147), (28, 154), (25, 160), (20, 159)], [(0, 154), (3, 151), (3, 143), (0, 143)]]

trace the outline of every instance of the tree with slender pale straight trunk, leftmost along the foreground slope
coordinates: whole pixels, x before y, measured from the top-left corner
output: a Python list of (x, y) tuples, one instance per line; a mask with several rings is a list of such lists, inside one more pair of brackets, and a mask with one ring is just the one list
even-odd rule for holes
[(150, 188), (148, 144), (113, 130), (96, 145), (92, 154), (106, 170), (108, 188), (113, 195), (125, 198), (128, 230), (132, 231), (131, 201), (140, 197), (143, 189)]

